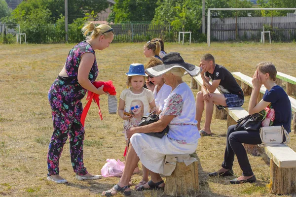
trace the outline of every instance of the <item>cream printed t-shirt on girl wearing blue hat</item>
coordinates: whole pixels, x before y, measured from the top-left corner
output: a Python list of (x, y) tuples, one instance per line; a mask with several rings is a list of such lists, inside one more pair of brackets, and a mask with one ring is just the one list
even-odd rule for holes
[[(140, 105), (141, 107), (138, 110), (141, 112), (140, 113), (141, 117), (143, 117), (149, 114), (149, 109), (150, 109), (149, 103), (153, 101), (154, 95), (152, 91), (146, 88), (143, 88), (143, 91), (140, 94), (135, 94), (131, 91), (130, 88), (128, 88), (122, 91), (120, 95), (120, 99), (125, 101), (124, 110), (131, 114), (133, 114), (131, 107), (135, 107), (135, 106), (131, 106), (132, 102), (133, 101), (134, 101), (133, 103), (136, 102), (136, 104), (134, 105)], [(124, 126), (139, 125), (139, 123), (140, 121), (136, 120), (135, 118), (132, 118), (130, 120), (124, 120)]]

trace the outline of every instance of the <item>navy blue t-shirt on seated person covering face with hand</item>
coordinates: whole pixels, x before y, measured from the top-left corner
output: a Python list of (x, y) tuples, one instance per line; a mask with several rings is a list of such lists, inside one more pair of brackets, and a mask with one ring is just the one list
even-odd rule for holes
[(291, 132), (291, 102), (284, 89), (280, 86), (273, 86), (270, 91), (266, 90), (263, 100), (271, 102), (271, 106), (274, 109), (273, 126), (283, 125), (288, 132)]

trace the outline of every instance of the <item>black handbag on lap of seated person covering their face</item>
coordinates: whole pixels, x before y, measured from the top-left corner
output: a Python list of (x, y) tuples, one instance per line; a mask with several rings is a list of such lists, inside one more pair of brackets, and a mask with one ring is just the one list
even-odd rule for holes
[(261, 128), (262, 121), (263, 121), (263, 116), (259, 113), (247, 115), (236, 121), (237, 125), (235, 126), (234, 131), (238, 131), (238, 130), (259, 131)]

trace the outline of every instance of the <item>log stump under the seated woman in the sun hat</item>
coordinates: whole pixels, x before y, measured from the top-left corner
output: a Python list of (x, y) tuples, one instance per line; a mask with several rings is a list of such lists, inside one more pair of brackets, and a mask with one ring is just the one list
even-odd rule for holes
[(184, 162), (177, 162), (172, 175), (166, 177), (164, 194), (173, 197), (195, 196), (198, 189), (198, 163), (186, 166)]

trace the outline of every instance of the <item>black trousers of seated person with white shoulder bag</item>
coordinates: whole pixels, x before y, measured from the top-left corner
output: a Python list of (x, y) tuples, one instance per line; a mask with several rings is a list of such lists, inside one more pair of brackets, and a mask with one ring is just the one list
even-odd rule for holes
[(252, 176), (254, 173), (242, 143), (261, 144), (259, 131), (234, 131), (234, 127), (235, 125), (228, 127), (222, 167), (225, 169), (232, 169), (235, 154), (238, 164), (243, 171), (243, 176)]

